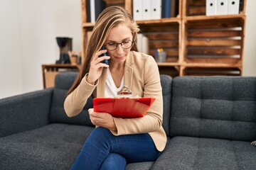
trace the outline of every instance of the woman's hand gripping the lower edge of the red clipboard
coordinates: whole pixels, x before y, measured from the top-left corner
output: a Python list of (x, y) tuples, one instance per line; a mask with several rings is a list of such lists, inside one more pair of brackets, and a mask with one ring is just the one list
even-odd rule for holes
[(114, 124), (114, 119), (109, 113), (97, 113), (93, 111), (93, 108), (89, 108), (88, 112), (93, 125), (107, 128), (108, 130), (117, 131), (117, 127)]

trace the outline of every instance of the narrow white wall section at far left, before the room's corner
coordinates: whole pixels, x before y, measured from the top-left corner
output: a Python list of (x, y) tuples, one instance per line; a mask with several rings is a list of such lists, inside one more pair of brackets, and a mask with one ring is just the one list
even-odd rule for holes
[(22, 89), (19, 1), (0, 1), (0, 98)]

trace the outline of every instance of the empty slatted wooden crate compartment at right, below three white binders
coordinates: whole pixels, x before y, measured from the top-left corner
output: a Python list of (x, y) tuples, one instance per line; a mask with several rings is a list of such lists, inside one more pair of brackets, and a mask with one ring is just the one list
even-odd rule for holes
[(184, 62), (242, 64), (244, 18), (188, 20), (183, 26)]

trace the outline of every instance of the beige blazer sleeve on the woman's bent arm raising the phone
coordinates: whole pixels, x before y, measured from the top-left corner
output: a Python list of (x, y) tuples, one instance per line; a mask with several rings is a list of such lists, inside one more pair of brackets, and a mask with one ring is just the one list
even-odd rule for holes
[(87, 83), (86, 77), (87, 74), (82, 78), (78, 87), (65, 98), (64, 110), (68, 117), (78, 115), (82, 111), (82, 108), (87, 103), (87, 99), (92, 95), (98, 84), (98, 80), (95, 82), (95, 85)]

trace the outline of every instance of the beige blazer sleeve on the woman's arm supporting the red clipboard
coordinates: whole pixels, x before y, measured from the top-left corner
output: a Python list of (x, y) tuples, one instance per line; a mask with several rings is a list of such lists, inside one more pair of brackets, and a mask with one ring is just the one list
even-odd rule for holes
[[(128, 135), (146, 132), (155, 132), (161, 128), (163, 117), (163, 97), (159, 68), (153, 57), (146, 57), (144, 62), (144, 97), (154, 97), (156, 100), (143, 118), (122, 119), (114, 118), (117, 131), (113, 135)], [(134, 80), (136, 81), (136, 80)]]

